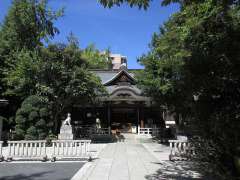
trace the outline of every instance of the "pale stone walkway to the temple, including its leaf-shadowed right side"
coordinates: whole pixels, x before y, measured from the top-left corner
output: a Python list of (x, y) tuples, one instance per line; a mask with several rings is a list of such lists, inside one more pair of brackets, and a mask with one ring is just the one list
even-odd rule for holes
[(202, 179), (190, 162), (168, 161), (169, 147), (124, 136), (125, 142), (108, 144), (88, 170), (72, 180)]

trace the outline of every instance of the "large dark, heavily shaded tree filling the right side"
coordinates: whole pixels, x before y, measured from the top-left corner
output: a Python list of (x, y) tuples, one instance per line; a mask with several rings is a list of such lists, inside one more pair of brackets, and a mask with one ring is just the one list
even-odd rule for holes
[(219, 177), (236, 173), (240, 146), (239, 14), (237, 1), (189, 1), (139, 60), (145, 92), (183, 114), (188, 133), (216, 145), (216, 159), (208, 148), (202, 155), (212, 158)]

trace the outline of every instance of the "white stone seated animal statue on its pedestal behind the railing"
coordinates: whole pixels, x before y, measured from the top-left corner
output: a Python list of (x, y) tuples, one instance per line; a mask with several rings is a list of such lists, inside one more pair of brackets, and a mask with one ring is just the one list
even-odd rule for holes
[(67, 114), (67, 118), (62, 122), (62, 126), (60, 128), (60, 134), (58, 134), (59, 140), (72, 140), (73, 132), (71, 126), (71, 114)]

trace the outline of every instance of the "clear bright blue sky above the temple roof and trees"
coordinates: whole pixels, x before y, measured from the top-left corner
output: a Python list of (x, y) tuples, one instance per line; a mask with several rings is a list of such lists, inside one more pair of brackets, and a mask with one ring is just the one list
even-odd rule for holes
[[(1, 1), (2, 22), (11, 0)], [(100, 50), (109, 47), (112, 53), (127, 56), (131, 69), (141, 68), (137, 57), (148, 51), (153, 32), (179, 9), (176, 4), (161, 7), (159, 0), (153, 0), (147, 11), (126, 4), (106, 9), (97, 0), (49, 0), (49, 5), (53, 9), (65, 8), (65, 15), (56, 22), (60, 34), (53, 41), (66, 42), (66, 36), (73, 32), (81, 48), (91, 43)]]

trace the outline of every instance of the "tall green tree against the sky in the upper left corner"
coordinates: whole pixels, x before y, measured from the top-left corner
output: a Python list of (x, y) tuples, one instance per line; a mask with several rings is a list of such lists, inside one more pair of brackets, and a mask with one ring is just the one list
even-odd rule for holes
[[(10, 69), (14, 69), (16, 58), (22, 50), (37, 50), (44, 40), (53, 38), (58, 29), (53, 22), (63, 10), (52, 11), (45, 0), (14, 0), (0, 26), (0, 81)], [(1, 92), (1, 93), (2, 93)]]

